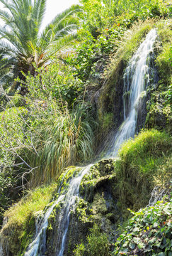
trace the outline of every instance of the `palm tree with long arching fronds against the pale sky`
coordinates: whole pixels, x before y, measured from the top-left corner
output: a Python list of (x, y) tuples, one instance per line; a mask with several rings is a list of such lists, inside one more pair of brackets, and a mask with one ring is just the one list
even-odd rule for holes
[[(48, 63), (64, 46), (76, 37), (78, 5), (58, 14), (40, 33), (46, 0), (0, 0), (6, 11), (0, 10), (5, 26), (0, 27), (0, 49), (13, 66), (13, 73), (24, 80), (22, 73), (35, 75), (35, 68)], [(5, 41), (4, 41), (5, 39)]]

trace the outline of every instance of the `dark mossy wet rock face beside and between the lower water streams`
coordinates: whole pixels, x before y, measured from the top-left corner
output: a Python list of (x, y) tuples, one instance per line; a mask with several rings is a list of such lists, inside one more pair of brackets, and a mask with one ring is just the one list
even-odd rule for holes
[[(73, 255), (76, 245), (86, 242), (89, 230), (95, 223), (109, 238), (114, 238), (116, 223), (121, 216), (116, 206), (117, 199), (114, 197), (114, 183), (112, 159), (99, 161), (84, 176), (80, 186), (80, 198), (76, 199), (75, 207), (71, 209), (64, 256)], [(57, 255), (58, 218), (61, 210), (61, 206), (58, 206), (49, 218), (46, 252), (48, 256)]]

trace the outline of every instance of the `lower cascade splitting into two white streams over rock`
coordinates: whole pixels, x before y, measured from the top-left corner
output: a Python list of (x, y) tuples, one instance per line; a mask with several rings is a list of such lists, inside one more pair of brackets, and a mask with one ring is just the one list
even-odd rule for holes
[(48, 218), (50, 217), (50, 214), (52, 213), (52, 210), (55, 208), (55, 206), (57, 206), (57, 204), (62, 201), (64, 206), (62, 209), (62, 213), (59, 215), (59, 233), (57, 238), (57, 245), (59, 246), (57, 247), (57, 255), (63, 255), (71, 209), (72, 206), (74, 206), (75, 204), (76, 197), (79, 196), (79, 186), (81, 183), (81, 179), (91, 168), (92, 165), (93, 164), (81, 168), (81, 171), (79, 171), (79, 173), (76, 172), (76, 176), (69, 181), (68, 190), (66, 194), (64, 193), (66, 190), (64, 190), (64, 192), (62, 191), (62, 194), (60, 194), (63, 183), (62, 181), (58, 191), (59, 198), (57, 198), (57, 201), (55, 201), (55, 203), (53, 203), (53, 205), (45, 213), (40, 228), (37, 228), (35, 239), (33, 240), (33, 242), (30, 243), (27, 252), (25, 252), (25, 256), (45, 255), (46, 229), (48, 226)]

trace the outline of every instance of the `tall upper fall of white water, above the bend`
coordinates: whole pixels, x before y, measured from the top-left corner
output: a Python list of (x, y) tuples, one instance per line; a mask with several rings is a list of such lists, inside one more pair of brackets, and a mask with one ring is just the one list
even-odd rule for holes
[(149, 85), (149, 57), (154, 52), (156, 29), (152, 29), (127, 65), (124, 80), (124, 122), (118, 129), (106, 157), (115, 157), (122, 142), (134, 137), (137, 114)]

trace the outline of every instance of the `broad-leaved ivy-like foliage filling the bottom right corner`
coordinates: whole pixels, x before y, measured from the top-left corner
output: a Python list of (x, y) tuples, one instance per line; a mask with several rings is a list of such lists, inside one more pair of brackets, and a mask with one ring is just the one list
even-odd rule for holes
[(113, 255), (171, 255), (171, 211), (172, 202), (164, 200), (132, 212), (134, 217), (117, 238)]

